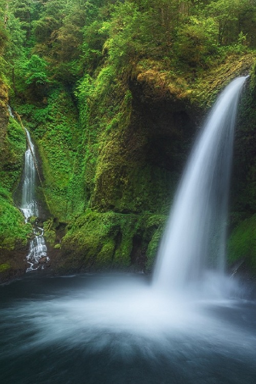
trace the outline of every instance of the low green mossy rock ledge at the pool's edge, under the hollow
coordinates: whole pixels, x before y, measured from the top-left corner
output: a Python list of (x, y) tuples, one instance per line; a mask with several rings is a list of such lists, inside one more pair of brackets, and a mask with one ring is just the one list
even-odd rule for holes
[[(66, 270), (101, 268), (144, 269), (146, 249), (166, 216), (118, 214), (87, 211), (79, 217), (62, 239), (64, 257), (60, 264)], [(158, 238), (154, 238), (156, 248)], [(148, 257), (153, 263), (156, 253)], [(150, 267), (148, 267), (148, 270)]]

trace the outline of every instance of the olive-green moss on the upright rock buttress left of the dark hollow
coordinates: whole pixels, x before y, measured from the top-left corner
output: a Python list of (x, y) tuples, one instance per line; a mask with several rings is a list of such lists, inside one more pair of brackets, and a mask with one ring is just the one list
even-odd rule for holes
[[(91, 108), (84, 131), (83, 174), (88, 206), (120, 213), (161, 211), (173, 187), (170, 173), (147, 164), (147, 132), (133, 116), (132, 92), (114, 68), (102, 71), (87, 95)], [(106, 74), (111, 81), (102, 81)]]

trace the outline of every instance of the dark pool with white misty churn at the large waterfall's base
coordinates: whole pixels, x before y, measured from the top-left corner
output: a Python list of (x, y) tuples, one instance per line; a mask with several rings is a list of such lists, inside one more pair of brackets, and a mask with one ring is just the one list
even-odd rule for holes
[(0, 289), (4, 382), (254, 384), (252, 300), (164, 294), (129, 274)]

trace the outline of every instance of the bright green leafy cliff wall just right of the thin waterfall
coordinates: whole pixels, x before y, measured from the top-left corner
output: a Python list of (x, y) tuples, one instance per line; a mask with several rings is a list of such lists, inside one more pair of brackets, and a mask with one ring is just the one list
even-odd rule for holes
[[(72, 98), (64, 90), (57, 89), (43, 108), (24, 104), (17, 105), (16, 109), (29, 120), (27, 126), (38, 145), (51, 212), (67, 221), (84, 206), (83, 138)], [(38, 195), (44, 200), (40, 187)]]

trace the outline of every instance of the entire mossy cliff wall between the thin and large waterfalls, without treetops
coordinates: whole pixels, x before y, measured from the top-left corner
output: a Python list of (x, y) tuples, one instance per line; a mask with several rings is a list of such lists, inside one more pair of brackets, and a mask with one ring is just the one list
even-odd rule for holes
[[(253, 59), (229, 58), (218, 70), (197, 74), (196, 81), (191, 73), (181, 78), (153, 62), (138, 65), (127, 77), (106, 66), (97, 76), (86, 75), (81, 81), (84, 97), (78, 101), (59, 88), (40, 105), (16, 104), (38, 147), (51, 210), (45, 223), (48, 270), (152, 270), (178, 180), (204, 115), (227, 82), (249, 71)], [(252, 116), (255, 107), (250, 105)], [(245, 125), (241, 130), (245, 132)], [(249, 137), (253, 130), (251, 125)], [(236, 151), (243, 154), (242, 134), (237, 142)], [(239, 174), (245, 175), (250, 156), (239, 160)], [(236, 217), (237, 201), (246, 211), (243, 177), (233, 188)], [(247, 177), (252, 181), (251, 170)], [(18, 174), (10, 191), (17, 179)], [(41, 187), (37, 189), (38, 198), (44, 200)], [(252, 194), (252, 184), (249, 189)], [(250, 200), (254, 204), (253, 196)], [(7, 264), (3, 262), (5, 270)]]

